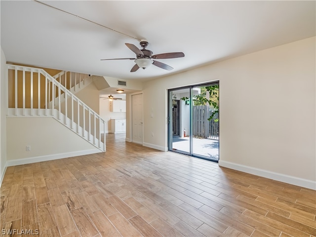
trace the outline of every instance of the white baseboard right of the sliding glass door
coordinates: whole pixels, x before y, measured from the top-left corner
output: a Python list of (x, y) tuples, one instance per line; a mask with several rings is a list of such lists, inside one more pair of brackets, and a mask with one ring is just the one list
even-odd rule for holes
[(316, 190), (316, 182), (313, 180), (302, 179), (302, 178), (298, 178), (298, 177), (294, 177), (294, 176), (290, 176), (286, 174), (272, 172), (269, 170), (259, 169), (259, 168), (237, 164), (237, 163), (233, 163), (229, 161), (223, 161), (221, 159), (219, 159), (218, 164), (219, 166), (223, 166), (226, 168), (235, 169), (235, 170), (242, 171), (245, 173), (262, 176), (268, 179), (273, 179), (276, 181)]

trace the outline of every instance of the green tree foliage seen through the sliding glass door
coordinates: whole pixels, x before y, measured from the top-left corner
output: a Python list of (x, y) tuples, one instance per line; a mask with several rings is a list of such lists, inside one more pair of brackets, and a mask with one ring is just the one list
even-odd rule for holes
[[(193, 98), (194, 105), (209, 105), (213, 110), (212, 115), (208, 118), (211, 120), (219, 111), (219, 85), (210, 85), (200, 87), (201, 93)], [(206, 98), (206, 92), (209, 92), (209, 99)]]

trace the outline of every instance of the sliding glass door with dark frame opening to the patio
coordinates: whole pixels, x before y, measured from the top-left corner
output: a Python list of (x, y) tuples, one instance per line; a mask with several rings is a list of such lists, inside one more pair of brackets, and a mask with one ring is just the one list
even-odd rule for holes
[(218, 81), (168, 90), (168, 150), (218, 161)]

